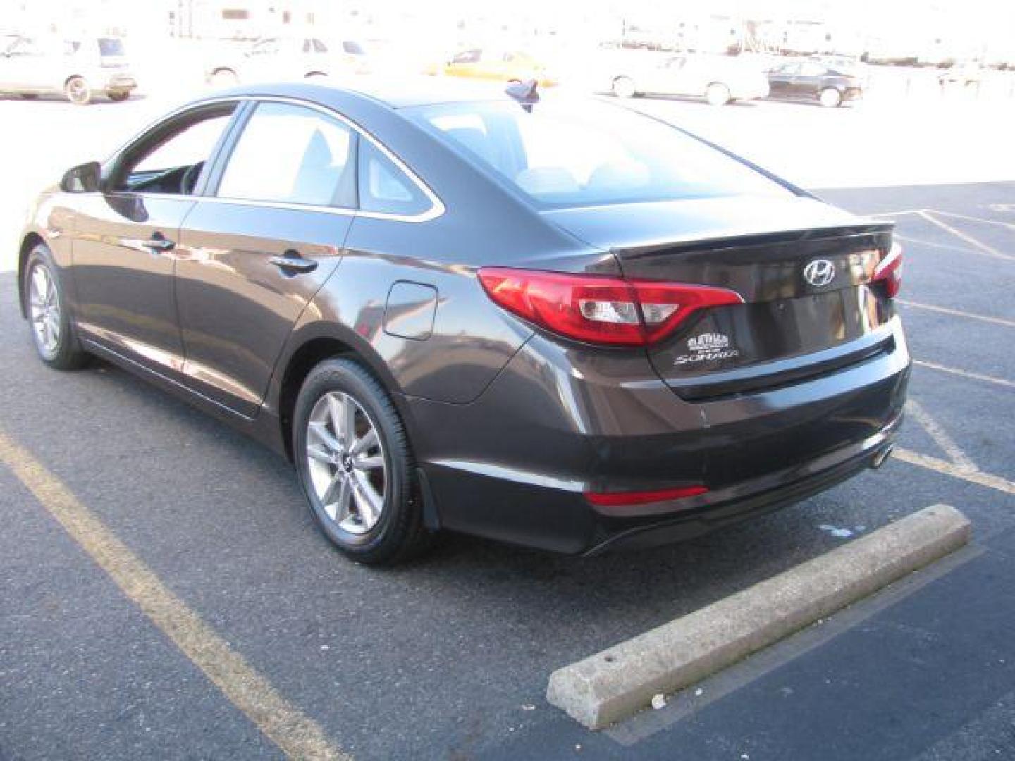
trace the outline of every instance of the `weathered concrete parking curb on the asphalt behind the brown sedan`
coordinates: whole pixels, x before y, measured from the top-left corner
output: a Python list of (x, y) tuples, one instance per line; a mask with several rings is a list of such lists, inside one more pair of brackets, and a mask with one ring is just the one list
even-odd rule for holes
[(937, 504), (550, 675), (546, 699), (601, 730), (783, 639), (969, 541)]

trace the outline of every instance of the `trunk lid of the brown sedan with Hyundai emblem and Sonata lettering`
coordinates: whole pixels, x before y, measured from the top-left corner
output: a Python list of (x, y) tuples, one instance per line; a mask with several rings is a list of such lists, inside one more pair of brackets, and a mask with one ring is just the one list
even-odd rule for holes
[(870, 287), (892, 223), (805, 196), (694, 199), (545, 212), (611, 250), (628, 279), (728, 288), (647, 351), (688, 400), (796, 383), (890, 350), (890, 299)]

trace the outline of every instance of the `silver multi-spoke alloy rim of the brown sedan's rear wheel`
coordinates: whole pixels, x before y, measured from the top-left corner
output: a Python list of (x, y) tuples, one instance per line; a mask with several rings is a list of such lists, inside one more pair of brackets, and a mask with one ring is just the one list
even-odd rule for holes
[(311, 411), (307, 463), (328, 517), (350, 534), (365, 534), (381, 520), (388, 492), (384, 447), (377, 426), (348, 394), (329, 392)]

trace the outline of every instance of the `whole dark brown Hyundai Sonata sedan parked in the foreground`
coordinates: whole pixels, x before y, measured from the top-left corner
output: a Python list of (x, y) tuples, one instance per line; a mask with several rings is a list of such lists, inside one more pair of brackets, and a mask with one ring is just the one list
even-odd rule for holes
[(43, 361), (97, 355), (295, 465), (328, 537), (674, 541), (887, 456), (889, 223), (599, 101), (247, 87), (43, 194)]

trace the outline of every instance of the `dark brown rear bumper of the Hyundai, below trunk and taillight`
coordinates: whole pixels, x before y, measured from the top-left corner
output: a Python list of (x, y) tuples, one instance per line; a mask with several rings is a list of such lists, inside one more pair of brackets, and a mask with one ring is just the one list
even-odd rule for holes
[[(404, 400), (430, 514), (581, 554), (678, 541), (798, 501), (890, 447), (909, 375), (897, 321), (894, 333), (890, 353), (706, 403), (645, 377), (644, 354), (605, 360), (536, 336), (472, 404)], [(695, 484), (708, 491), (623, 507), (584, 496)]]

